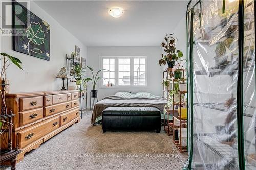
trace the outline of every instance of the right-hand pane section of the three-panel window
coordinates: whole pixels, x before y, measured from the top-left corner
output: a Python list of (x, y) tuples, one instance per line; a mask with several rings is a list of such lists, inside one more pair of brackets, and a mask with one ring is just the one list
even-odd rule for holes
[(133, 78), (134, 85), (146, 85), (145, 58), (134, 58)]

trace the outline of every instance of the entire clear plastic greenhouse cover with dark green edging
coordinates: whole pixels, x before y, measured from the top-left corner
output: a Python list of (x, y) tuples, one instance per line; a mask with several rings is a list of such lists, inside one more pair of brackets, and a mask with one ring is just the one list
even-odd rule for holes
[[(189, 160), (185, 167), (191, 169), (239, 169), (238, 13), (239, 1), (198, 1), (187, 8)], [(243, 39), (242, 144), (245, 169), (256, 169), (252, 0), (244, 1)]]

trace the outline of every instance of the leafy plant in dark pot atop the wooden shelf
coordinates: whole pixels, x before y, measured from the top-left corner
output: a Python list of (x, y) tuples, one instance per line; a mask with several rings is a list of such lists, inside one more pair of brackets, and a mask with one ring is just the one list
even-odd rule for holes
[(164, 37), (165, 42), (161, 44), (166, 54), (162, 54), (162, 58), (159, 60), (160, 66), (167, 63), (169, 68), (173, 68), (175, 61), (183, 56), (183, 53), (176, 49), (175, 44), (177, 38), (172, 37), (172, 35), (173, 34), (166, 35), (166, 37)]

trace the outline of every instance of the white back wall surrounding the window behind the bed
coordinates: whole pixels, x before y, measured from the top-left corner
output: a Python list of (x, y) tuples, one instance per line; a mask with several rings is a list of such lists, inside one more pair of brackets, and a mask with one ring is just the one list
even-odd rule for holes
[[(87, 65), (95, 71), (100, 69), (100, 56), (147, 56), (147, 87), (116, 87), (116, 88), (99, 88), (98, 98), (101, 100), (105, 96), (113, 95), (118, 91), (130, 92), (151, 92), (154, 95), (162, 96), (162, 70), (158, 64), (161, 56), (161, 47), (88, 47), (87, 48)], [(91, 76), (90, 72), (87, 72)], [(92, 89), (91, 82), (88, 86), (88, 95)]]

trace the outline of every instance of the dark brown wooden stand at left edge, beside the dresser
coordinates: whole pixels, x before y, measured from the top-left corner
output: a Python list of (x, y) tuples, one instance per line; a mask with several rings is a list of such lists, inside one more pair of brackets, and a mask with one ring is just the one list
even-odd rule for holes
[(15, 114), (10, 109), (7, 111), (5, 104), (5, 86), (9, 84), (5, 83), (3, 79), (1, 81), (1, 115), (0, 115), (0, 163), (9, 162), (11, 164), (11, 170), (16, 169), (17, 155), (22, 152), (18, 149), (12, 149), (12, 118)]

